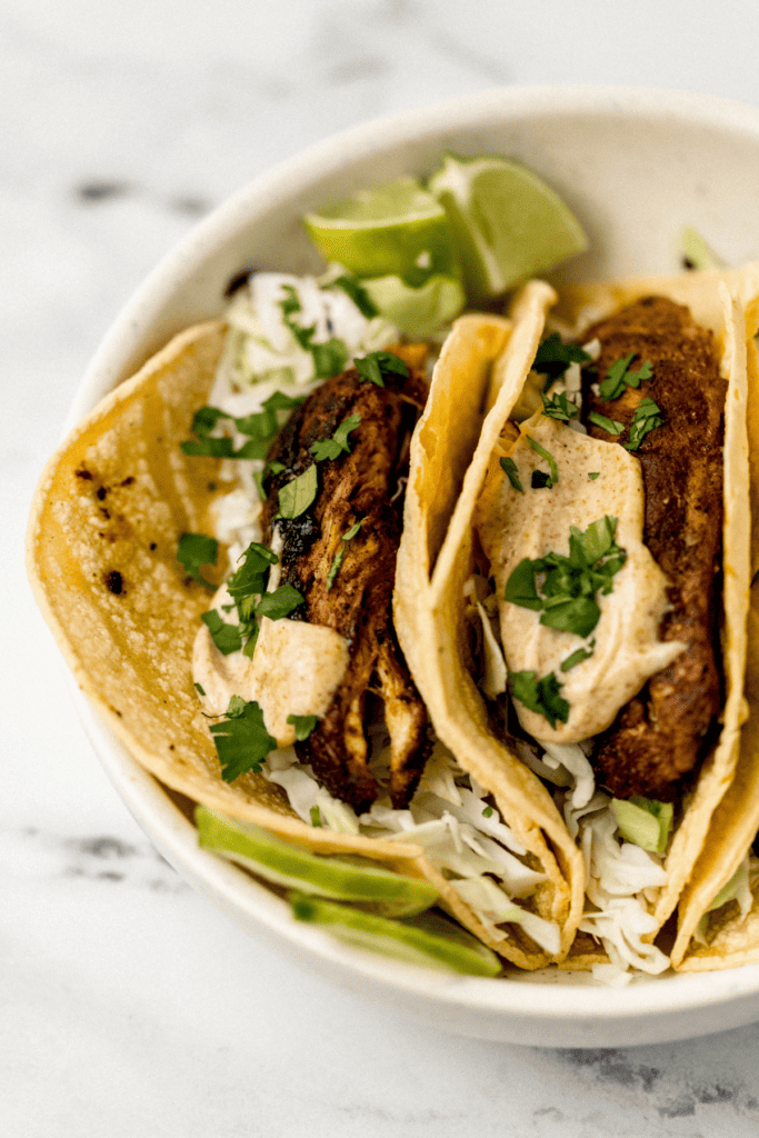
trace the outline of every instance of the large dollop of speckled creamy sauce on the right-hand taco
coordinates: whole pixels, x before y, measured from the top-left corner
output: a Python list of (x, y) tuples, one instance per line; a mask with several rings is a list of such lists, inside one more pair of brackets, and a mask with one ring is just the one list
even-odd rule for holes
[[(643, 478), (637, 460), (616, 443), (603, 443), (537, 414), (521, 424), (510, 456), (523, 492), (515, 490), (494, 463), (478, 505), (476, 526), (490, 561), (501, 609), (501, 635), (509, 671), (555, 673), (561, 696), (569, 702), (566, 724), (548, 720), (515, 700), (519, 720), (533, 737), (577, 743), (610, 725), (617, 711), (645, 681), (667, 667), (685, 649), (659, 640), (667, 611), (667, 579), (643, 544)], [(526, 435), (555, 460), (559, 481), (551, 489), (533, 489), (534, 470), (547, 464)], [(594, 480), (588, 473), (599, 471)], [(613, 577), (613, 591), (596, 594), (601, 618), (587, 638), (539, 624), (541, 613), (503, 600), (506, 582), (523, 558), (548, 552), (569, 554), (570, 526), (584, 530), (603, 518), (618, 519), (616, 539), (627, 561)], [(562, 673), (560, 665), (578, 648), (595, 640), (594, 654)]]

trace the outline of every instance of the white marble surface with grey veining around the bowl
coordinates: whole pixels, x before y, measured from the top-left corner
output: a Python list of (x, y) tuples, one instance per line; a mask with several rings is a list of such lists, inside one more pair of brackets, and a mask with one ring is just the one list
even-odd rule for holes
[(634, 1050), (448, 1038), (229, 925), (107, 783), (20, 546), (101, 333), (238, 185), (343, 126), (497, 83), (620, 82), (759, 104), (758, 43), (751, 0), (5, 0), (3, 1135), (757, 1132), (759, 1025)]

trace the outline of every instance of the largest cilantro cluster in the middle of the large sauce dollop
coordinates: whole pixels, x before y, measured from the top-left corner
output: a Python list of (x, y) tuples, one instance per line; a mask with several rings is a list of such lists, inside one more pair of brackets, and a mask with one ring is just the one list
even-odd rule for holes
[(585, 531), (570, 526), (569, 556), (525, 558), (509, 576), (505, 600), (541, 612), (541, 624), (548, 628), (589, 636), (601, 618), (595, 594), (612, 592), (614, 574), (627, 560), (616, 531), (617, 519), (608, 514)]

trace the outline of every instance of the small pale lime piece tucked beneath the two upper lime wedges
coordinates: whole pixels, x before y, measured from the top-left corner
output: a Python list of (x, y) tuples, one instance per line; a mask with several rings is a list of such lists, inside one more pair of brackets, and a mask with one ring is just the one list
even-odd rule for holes
[(442, 273), (420, 288), (411, 288), (399, 277), (377, 277), (362, 284), (385, 319), (411, 339), (428, 339), (457, 316), (467, 300), (461, 283)]

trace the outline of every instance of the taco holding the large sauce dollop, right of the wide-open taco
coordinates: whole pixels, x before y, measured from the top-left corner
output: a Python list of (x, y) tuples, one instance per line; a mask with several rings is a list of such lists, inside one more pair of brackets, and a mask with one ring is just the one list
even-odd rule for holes
[(423, 419), (414, 439), (401, 643), (438, 735), (500, 805), (520, 795), (554, 849), (566, 966), (668, 966), (652, 941), (735, 778), (758, 295), (753, 265), (561, 298), (528, 286), (512, 314), (513, 344), (539, 310), (521, 370), (494, 373), (445, 533)]

